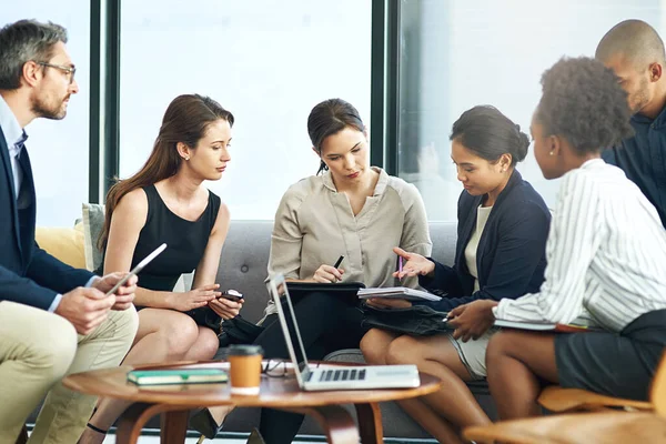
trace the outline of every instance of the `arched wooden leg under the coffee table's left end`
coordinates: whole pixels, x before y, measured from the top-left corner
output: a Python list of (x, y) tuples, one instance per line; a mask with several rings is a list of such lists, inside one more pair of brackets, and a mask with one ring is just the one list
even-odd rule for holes
[(162, 413), (160, 441), (165, 444), (182, 444), (188, 430), (188, 407), (178, 405), (132, 404), (120, 416), (115, 443), (137, 444), (145, 423)]

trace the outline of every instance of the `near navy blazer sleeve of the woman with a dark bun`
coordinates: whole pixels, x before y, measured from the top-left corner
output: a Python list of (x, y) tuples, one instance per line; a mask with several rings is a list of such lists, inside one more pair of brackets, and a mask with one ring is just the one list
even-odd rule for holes
[[(477, 300), (500, 301), (527, 293), (537, 269), (542, 269), (543, 281), (549, 222), (549, 213), (534, 202), (524, 202), (508, 209), (500, 223), (497, 248), (490, 264), (487, 280), (481, 290), (470, 296), (444, 297), (428, 305), (446, 312)], [(444, 279), (445, 275), (442, 276)]]

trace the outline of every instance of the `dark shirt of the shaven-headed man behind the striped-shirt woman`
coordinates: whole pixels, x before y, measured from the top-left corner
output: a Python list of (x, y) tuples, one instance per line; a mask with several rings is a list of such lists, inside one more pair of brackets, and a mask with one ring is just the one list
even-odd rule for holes
[(666, 108), (654, 120), (634, 114), (632, 127), (636, 134), (602, 157), (638, 185), (666, 228)]

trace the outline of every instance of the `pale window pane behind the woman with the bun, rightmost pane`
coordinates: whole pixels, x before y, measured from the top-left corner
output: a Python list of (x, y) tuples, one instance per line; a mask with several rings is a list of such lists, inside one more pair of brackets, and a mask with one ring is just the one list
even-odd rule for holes
[[(456, 219), (462, 186), (448, 134), (476, 104), (498, 108), (528, 133), (541, 75), (562, 56), (594, 56), (616, 23), (642, 19), (666, 36), (663, 2), (563, 0), (401, 0), (400, 175), (415, 183), (431, 220)], [(546, 181), (531, 152), (517, 167), (551, 206), (558, 181)]]

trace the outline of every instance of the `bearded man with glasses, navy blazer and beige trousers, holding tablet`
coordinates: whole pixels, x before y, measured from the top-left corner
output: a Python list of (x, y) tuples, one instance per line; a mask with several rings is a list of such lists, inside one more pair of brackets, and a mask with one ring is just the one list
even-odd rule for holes
[(63, 119), (79, 91), (65, 43), (67, 31), (53, 23), (22, 20), (0, 29), (0, 443), (17, 440), (44, 396), (30, 442), (75, 443), (95, 398), (60, 380), (118, 365), (138, 327), (135, 278), (107, 296), (125, 273), (97, 278), (34, 241), (24, 128), (38, 118)]

